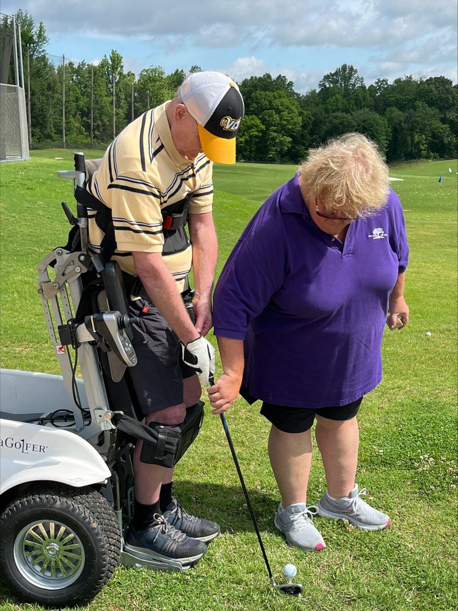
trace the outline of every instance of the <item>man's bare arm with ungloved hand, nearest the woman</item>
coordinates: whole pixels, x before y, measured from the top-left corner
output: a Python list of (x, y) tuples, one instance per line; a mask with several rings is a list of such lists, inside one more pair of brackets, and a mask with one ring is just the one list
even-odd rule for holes
[(211, 212), (189, 214), (189, 237), (192, 244), (194, 270), (195, 329), (206, 335), (213, 327), (211, 291), (216, 268), (218, 246)]

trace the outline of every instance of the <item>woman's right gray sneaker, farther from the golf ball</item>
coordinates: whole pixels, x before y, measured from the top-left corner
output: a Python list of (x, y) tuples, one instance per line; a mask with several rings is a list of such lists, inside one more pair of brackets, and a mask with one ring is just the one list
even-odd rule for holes
[(390, 525), (390, 517), (368, 505), (361, 498), (363, 494), (366, 494), (366, 488), (358, 492), (357, 484), (349, 496), (338, 500), (330, 499), (325, 492), (318, 502), (318, 515), (322, 518), (346, 519), (364, 530), (386, 529)]

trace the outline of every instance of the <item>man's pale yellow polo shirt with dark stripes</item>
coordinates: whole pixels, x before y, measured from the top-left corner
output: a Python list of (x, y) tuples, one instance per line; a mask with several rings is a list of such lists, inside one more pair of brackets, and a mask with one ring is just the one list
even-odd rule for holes
[[(202, 153), (194, 161), (176, 150), (165, 115), (165, 102), (130, 123), (107, 148), (88, 191), (111, 208), (117, 249), (112, 256), (123, 271), (135, 274), (132, 252), (162, 252), (161, 209), (192, 193), (189, 214), (211, 211), (213, 163)], [(100, 252), (104, 233), (89, 210), (89, 241)], [(178, 290), (187, 288), (192, 245), (164, 255)]]

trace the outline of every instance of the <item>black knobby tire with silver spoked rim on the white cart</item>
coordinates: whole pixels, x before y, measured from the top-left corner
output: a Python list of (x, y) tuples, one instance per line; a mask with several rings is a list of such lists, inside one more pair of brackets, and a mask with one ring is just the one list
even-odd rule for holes
[(24, 601), (53, 607), (90, 601), (118, 565), (114, 511), (90, 487), (56, 484), (26, 494), (0, 516), (0, 573)]

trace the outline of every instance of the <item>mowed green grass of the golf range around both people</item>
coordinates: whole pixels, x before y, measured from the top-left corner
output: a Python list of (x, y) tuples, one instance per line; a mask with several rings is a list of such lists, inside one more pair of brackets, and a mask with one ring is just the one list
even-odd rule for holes
[[(32, 152), (30, 161), (0, 166), (2, 367), (59, 373), (37, 295), (36, 266), (66, 242), (70, 225), (60, 202), (67, 200), (73, 210), (75, 205), (70, 181), (59, 180), (56, 170), (72, 167), (73, 155), (62, 150)], [(215, 167), (218, 273), (260, 203), (295, 169)], [(316, 518), (325, 551), (304, 554), (286, 546), (273, 523), (280, 499), (266, 452), (269, 425), (258, 413), (259, 404), (238, 400), (227, 420), (272, 571), (282, 581), (283, 566), (294, 563), (296, 579), (304, 584), (300, 599), (276, 593), (219, 417), (207, 406), (202, 431), (176, 468), (175, 491), (190, 513), (219, 522), (222, 535), (186, 573), (119, 567), (94, 601), (76, 609), (456, 609), (457, 169), (456, 160), (390, 169), (391, 177), (403, 179), (391, 185), (401, 197), (410, 242), (405, 297), (411, 318), (403, 331), (385, 329), (384, 378), (360, 411), (357, 474), (371, 503), (390, 514), (390, 527), (368, 533), (343, 521)], [(324, 491), (324, 471), (314, 448), (308, 502), (318, 502)], [(0, 609), (43, 607), (22, 603), (2, 584)]]

